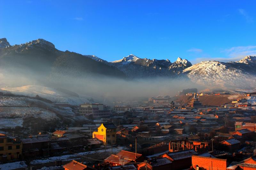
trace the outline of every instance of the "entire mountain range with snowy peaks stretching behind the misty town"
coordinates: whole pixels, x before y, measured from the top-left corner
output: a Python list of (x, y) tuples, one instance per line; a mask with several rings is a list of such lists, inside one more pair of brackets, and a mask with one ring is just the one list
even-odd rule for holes
[(5, 38), (0, 39), (0, 74), (6, 72), (31, 78), (40, 75), (52, 80), (67, 76), (122, 79), (189, 78), (208, 87), (256, 88), (255, 56), (246, 56), (237, 62), (204, 61), (192, 65), (180, 57), (172, 63), (168, 59), (151, 60), (131, 54), (108, 62), (94, 55), (60, 51), (51, 42), (43, 39), (13, 46)]

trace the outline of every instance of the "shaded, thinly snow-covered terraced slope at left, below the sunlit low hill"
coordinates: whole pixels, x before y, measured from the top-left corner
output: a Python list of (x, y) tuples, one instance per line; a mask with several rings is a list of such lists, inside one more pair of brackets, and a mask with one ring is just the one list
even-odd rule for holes
[(70, 107), (56, 107), (52, 103), (26, 97), (0, 96), (0, 123), (4, 128), (22, 127), (23, 118), (40, 117), (47, 121), (58, 118), (58, 114), (76, 118)]

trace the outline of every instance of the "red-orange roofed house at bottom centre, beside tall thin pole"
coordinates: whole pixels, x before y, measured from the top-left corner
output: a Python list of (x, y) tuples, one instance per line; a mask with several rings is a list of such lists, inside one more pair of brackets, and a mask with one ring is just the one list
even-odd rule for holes
[[(128, 152), (128, 151), (120, 151), (116, 155), (112, 154), (108, 158), (105, 159), (105, 163), (109, 164), (109, 166), (118, 166), (125, 165), (127, 163), (132, 162), (143, 162), (144, 158), (141, 154)], [(136, 166), (136, 165), (135, 165)]]

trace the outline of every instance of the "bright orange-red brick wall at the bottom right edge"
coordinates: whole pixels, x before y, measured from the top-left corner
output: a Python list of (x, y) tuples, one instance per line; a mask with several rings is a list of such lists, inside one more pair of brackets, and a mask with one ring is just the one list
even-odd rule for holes
[(226, 170), (227, 160), (193, 155), (192, 166), (199, 166), (200, 170)]

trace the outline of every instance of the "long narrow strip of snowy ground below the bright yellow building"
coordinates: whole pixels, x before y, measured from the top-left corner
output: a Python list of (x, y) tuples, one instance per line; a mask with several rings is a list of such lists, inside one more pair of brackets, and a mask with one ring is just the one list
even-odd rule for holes
[[(126, 147), (124, 146), (117, 146), (115, 148), (113, 148), (113, 152), (117, 153), (120, 152), (121, 150), (127, 150)], [(103, 153), (105, 152), (105, 149), (101, 149), (101, 150), (97, 150), (97, 151), (91, 151), (91, 152), (80, 152), (77, 154), (69, 154), (69, 155), (62, 155), (62, 156), (55, 156), (55, 157), (50, 157), (47, 159), (36, 159), (36, 160), (32, 160), (30, 162), (31, 165), (36, 165), (36, 164), (44, 164), (44, 163), (49, 163), (49, 162), (54, 162), (56, 160), (73, 160), (76, 157), (81, 157), (81, 156), (85, 156), (85, 155), (89, 155), (89, 154), (97, 154), (97, 153)], [(106, 150), (106, 152), (111, 152), (111, 148), (108, 148)]]

